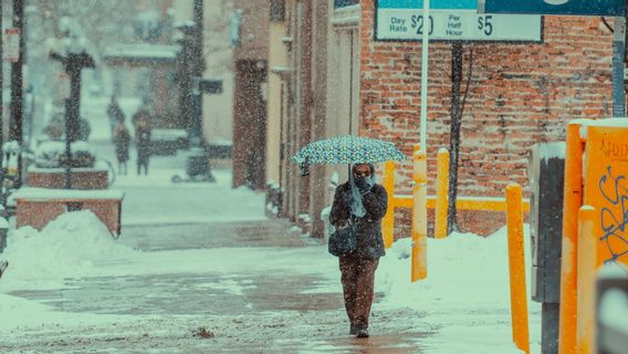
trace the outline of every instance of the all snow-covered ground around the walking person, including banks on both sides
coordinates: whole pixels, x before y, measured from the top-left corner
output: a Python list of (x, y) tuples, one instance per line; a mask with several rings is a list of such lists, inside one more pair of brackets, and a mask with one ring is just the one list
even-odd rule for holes
[[(228, 171), (217, 171), (217, 184), (172, 186), (169, 174), (178, 163), (164, 158), (155, 164), (148, 177), (132, 174), (116, 183), (127, 194), (126, 227), (170, 222), (211, 227), (264, 220), (263, 197), (231, 189)], [(201, 202), (208, 200), (217, 207)], [(337, 261), (325, 244), (305, 241), (303, 247), (290, 248), (233, 244), (147, 251), (123, 240), (127, 241), (124, 229), (122, 239), (115, 241), (88, 211), (60, 217), (41, 232), (30, 228), (12, 231), (2, 254), (10, 267), (0, 281), (0, 351), (186, 353), (220, 347), (255, 353), (264, 352), (258, 345), (273, 340), (268, 344), (270, 351), (343, 353), (367, 345), (345, 333)], [(428, 247), (429, 277), (414, 284), (409, 281), (408, 239), (397, 241), (381, 259), (368, 347), (381, 353), (516, 353), (511, 340), (505, 231), (486, 239), (453, 235), (429, 240)], [(259, 280), (269, 274), (279, 277), (274, 281), (285, 292), (260, 289), (264, 282)], [(128, 290), (123, 282), (129, 279), (150, 281)], [(181, 283), (189, 289), (177, 290), (179, 302), (207, 301), (207, 296), (192, 295), (207, 292), (223, 294), (217, 299), (230, 299), (223, 300), (229, 303), (241, 299), (240, 303), (222, 310), (208, 302), (199, 303), (198, 311), (180, 306), (168, 311), (174, 305), (164, 296), (175, 290), (150, 289), (159, 289), (159, 281), (180, 279), (189, 279)], [(289, 279), (303, 279), (303, 284)], [(118, 299), (124, 309), (119, 302), (107, 303), (96, 294), (97, 289), (92, 290), (93, 295), (69, 295), (97, 281), (128, 292)], [(265, 302), (263, 295), (252, 295), (268, 291), (274, 292)], [(293, 295), (310, 296), (311, 309), (292, 309)], [(78, 304), (90, 302), (90, 296), (92, 308)], [(150, 301), (153, 308), (146, 304)], [(211, 310), (205, 312), (205, 308)], [(532, 347), (537, 352), (540, 306), (530, 303), (530, 312)], [(199, 340), (195, 335), (199, 327), (213, 337)]]

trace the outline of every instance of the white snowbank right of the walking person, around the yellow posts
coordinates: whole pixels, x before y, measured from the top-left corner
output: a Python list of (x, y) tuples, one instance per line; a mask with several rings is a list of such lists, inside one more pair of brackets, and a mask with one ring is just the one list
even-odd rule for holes
[[(527, 226), (524, 231), (530, 254)], [(410, 254), (411, 239), (401, 239), (380, 259), (376, 291), (385, 296), (375, 311), (378, 305), (420, 311), (435, 331), (421, 343), (426, 353), (521, 353), (512, 343), (505, 228), (486, 238), (452, 233), (428, 239), (428, 277), (415, 283)], [(525, 270), (531, 352), (538, 353), (541, 306), (530, 300), (530, 264)]]

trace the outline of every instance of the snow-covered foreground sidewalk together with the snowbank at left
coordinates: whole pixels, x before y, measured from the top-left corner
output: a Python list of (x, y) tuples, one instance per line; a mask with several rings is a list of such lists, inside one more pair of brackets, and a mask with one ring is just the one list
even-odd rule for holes
[[(418, 311), (384, 306), (374, 311), (373, 327), (381, 333), (354, 343), (346, 334), (336, 260), (320, 242), (287, 229), (282, 236), (294, 243), (282, 247), (143, 251), (114, 241), (95, 221), (76, 212), (42, 232), (13, 235), (6, 254), (23, 261), (0, 284), (0, 313), (10, 319), (0, 322), (2, 353), (342, 353), (356, 345), (414, 352), (414, 342), (430, 331)], [(255, 239), (245, 231), (201, 237), (232, 236), (244, 244), (280, 240), (272, 235), (278, 226), (263, 223), (240, 225), (255, 229)], [(21, 253), (29, 249), (40, 249), (38, 262)], [(409, 327), (398, 333), (401, 319)], [(211, 337), (199, 336), (201, 327)]]

